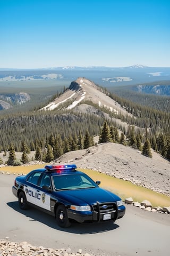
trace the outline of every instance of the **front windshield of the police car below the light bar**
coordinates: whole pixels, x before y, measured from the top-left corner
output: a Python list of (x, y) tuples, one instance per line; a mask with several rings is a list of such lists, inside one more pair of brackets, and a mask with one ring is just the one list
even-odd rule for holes
[(86, 174), (54, 175), (53, 180), (54, 180), (55, 190), (82, 189), (82, 188), (97, 187), (95, 181), (93, 181)]

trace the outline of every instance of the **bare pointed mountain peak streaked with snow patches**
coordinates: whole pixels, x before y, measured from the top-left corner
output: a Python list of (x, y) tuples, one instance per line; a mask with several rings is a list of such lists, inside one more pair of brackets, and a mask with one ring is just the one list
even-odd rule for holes
[(76, 81), (71, 82), (68, 90), (42, 109), (53, 110), (55, 108), (65, 108), (75, 109), (80, 112), (83, 112), (84, 109), (86, 111), (89, 109), (90, 111), (91, 107), (89, 108), (87, 103), (85, 105), (84, 101), (89, 101), (99, 107), (106, 108), (111, 113), (130, 115), (115, 100), (106, 95), (101, 87), (98, 87), (94, 82), (83, 77), (79, 77)]

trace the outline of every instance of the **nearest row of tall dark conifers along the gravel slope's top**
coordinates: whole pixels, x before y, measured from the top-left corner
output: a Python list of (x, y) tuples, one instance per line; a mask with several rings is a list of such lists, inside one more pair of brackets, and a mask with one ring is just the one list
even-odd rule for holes
[[(123, 132), (120, 134), (115, 126), (109, 126), (105, 120), (99, 133), (98, 142), (114, 142), (120, 143), (124, 146), (130, 146), (140, 150), (141, 154), (147, 157), (152, 157), (152, 147), (156, 152), (159, 152), (162, 156), (170, 159), (169, 137), (165, 138), (164, 135), (160, 133), (157, 138), (155, 136), (149, 138), (147, 129), (145, 134), (141, 134), (139, 129), (137, 130), (134, 126), (131, 125), (129, 125), (128, 131), (126, 135), (124, 135)], [(90, 136), (89, 131), (86, 131), (84, 136), (82, 135), (82, 132), (79, 131), (78, 135), (74, 133), (73, 135), (69, 135), (69, 137), (64, 137), (63, 139), (61, 138), (61, 135), (54, 137), (54, 134), (50, 134), (49, 138), (46, 140), (46, 144), (44, 144), (41, 140), (36, 141), (36, 151), (35, 157), (33, 157), (33, 159), (49, 163), (69, 151), (87, 149), (94, 145), (94, 137)], [(13, 143), (10, 143), (10, 147), (8, 149), (8, 160), (6, 162), (7, 165), (21, 165), (22, 163), (25, 164), (30, 161), (28, 156), (30, 149), (25, 141), (22, 141), (21, 150), (21, 159), (16, 159), (15, 147)], [(0, 163), (3, 163), (1, 158)]]

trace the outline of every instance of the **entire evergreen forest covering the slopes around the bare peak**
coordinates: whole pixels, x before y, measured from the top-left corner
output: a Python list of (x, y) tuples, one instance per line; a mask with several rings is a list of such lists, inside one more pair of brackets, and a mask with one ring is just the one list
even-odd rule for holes
[[(63, 91), (65, 90), (64, 88)], [(121, 143), (140, 150), (143, 155), (148, 157), (152, 157), (150, 151), (152, 148), (165, 158), (170, 159), (170, 112), (168, 107), (165, 110), (163, 106), (158, 108), (159, 101), (157, 102), (157, 100), (155, 105), (150, 107), (139, 103), (138, 100), (137, 102), (131, 101), (130, 94), (121, 97), (108, 92), (105, 88), (100, 87), (100, 90), (118, 102), (132, 116), (113, 114), (89, 101), (81, 103), (88, 103), (95, 107), (98, 110), (98, 115), (80, 113), (74, 109), (40, 111), (42, 103), (32, 110), (19, 111), (18, 108), (18, 111), (15, 112), (1, 111), (0, 151), (4, 151), (4, 154), (10, 152), (7, 164), (19, 164), (15, 159), (15, 151), (22, 152), (22, 163), (27, 163), (30, 160), (29, 151), (35, 151), (36, 160), (50, 162), (68, 151), (86, 149), (95, 145), (93, 139), (95, 135), (99, 136), (99, 143)], [(58, 95), (60, 94), (57, 93), (50, 97), (48, 102)], [(166, 103), (169, 106), (168, 97)], [(103, 113), (107, 114), (108, 118)], [(115, 122), (114, 118), (128, 124), (128, 129), (127, 125)]]

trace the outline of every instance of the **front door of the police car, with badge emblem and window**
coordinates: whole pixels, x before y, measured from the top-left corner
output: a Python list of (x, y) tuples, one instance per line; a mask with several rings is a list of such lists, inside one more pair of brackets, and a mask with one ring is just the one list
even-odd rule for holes
[(47, 174), (43, 174), (38, 189), (38, 193), (40, 194), (40, 200), (37, 200), (37, 205), (43, 209), (50, 211), (51, 193), (49, 190), (47, 190), (47, 188), (52, 188), (50, 177)]

